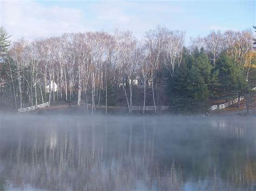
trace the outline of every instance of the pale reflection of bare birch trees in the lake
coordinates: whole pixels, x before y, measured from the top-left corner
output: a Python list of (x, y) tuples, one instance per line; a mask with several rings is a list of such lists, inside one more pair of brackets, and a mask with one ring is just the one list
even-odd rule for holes
[(111, 128), (104, 119), (68, 124), (69, 128), (49, 122), (17, 132), (6, 130), (12, 140), (4, 139), (0, 147), (1, 176), (19, 188), (26, 184), (52, 190), (130, 190), (138, 184), (148, 189), (181, 188), (174, 167), (166, 171), (165, 179), (159, 177), (152, 137), (141, 143), (134, 123), (122, 125), (119, 121)]

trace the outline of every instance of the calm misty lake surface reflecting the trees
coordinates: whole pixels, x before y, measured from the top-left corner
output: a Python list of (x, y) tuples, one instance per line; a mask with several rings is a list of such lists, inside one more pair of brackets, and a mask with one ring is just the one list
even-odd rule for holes
[(255, 117), (0, 117), (0, 190), (253, 190)]

